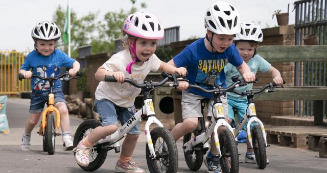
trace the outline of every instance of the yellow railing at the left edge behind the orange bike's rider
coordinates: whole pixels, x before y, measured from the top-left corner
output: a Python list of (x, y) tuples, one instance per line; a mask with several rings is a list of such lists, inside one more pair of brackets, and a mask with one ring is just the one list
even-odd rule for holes
[(31, 90), (31, 80), (18, 80), (20, 66), (28, 53), (0, 50), (0, 94), (17, 94)]

